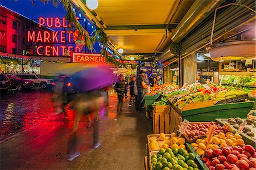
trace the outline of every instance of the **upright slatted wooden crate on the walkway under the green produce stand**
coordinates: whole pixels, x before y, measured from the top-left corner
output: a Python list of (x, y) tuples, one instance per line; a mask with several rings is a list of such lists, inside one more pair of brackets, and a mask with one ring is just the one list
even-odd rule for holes
[(154, 134), (170, 133), (170, 112), (156, 113), (153, 112), (153, 131)]

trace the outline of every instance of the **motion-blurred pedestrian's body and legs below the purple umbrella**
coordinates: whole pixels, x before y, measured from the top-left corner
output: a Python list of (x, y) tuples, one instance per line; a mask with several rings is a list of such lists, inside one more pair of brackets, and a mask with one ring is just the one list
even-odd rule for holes
[[(98, 108), (100, 103), (103, 101), (103, 97), (100, 95), (99, 90), (77, 93), (73, 99), (73, 107), (75, 107), (76, 117), (73, 121), (73, 131), (68, 139), (68, 160), (72, 161), (80, 155), (80, 152), (76, 151), (77, 146), (77, 129), (82, 115), (86, 109), (95, 107), (95, 113), (98, 115)], [(96, 116), (97, 119), (97, 116)], [(100, 134), (100, 121), (99, 119), (94, 121), (93, 125), (93, 147), (98, 148), (101, 143), (99, 141)]]

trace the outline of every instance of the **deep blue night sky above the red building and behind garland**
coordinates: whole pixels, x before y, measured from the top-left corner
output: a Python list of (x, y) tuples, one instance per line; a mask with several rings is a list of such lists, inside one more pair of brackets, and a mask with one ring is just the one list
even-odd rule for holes
[[(16, 2), (15, 2), (16, 1)], [(31, 0), (0, 0), (0, 4), (10, 8), (11, 10), (14, 10), (15, 12), (18, 12), (19, 14), (22, 14), (24, 16), (27, 16), (27, 18), (30, 19), (38, 19), (39, 17), (59, 17), (63, 18), (66, 14), (66, 11), (63, 8), (63, 5), (59, 5), (57, 8), (52, 5), (52, 3), (49, 2), (49, 4), (43, 4), (43, 2), (40, 2), (39, 0), (35, 0), (34, 6), (32, 6)], [(79, 11), (77, 12), (77, 16), (79, 16)], [(81, 18), (83, 19), (83, 18)], [(82, 20), (80, 22), (83, 26), (85, 25), (84, 21)], [(87, 24), (87, 30), (88, 32), (92, 32), (92, 24), (90, 26)], [(52, 28), (54, 29), (54, 28)], [(100, 46), (98, 43), (94, 45), (94, 49), (96, 50), (96, 53), (100, 53)]]

